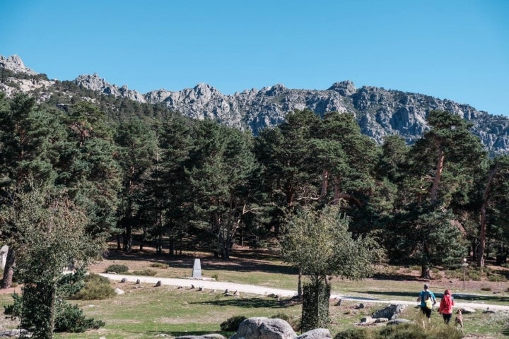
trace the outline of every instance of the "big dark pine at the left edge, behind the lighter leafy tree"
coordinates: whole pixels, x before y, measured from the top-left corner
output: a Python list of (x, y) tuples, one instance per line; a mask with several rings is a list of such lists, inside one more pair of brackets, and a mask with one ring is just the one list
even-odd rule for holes
[[(66, 131), (59, 114), (35, 105), (35, 99), (16, 95), (0, 96), (0, 205), (10, 206), (13, 191), (30, 190), (28, 178), (52, 186), (59, 177), (66, 147)], [(10, 242), (2, 287), (9, 287), (16, 262), (16, 244)]]

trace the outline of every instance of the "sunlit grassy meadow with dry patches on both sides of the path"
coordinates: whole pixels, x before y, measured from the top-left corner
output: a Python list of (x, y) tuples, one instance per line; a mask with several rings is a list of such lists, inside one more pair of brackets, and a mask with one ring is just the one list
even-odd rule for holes
[[(90, 271), (104, 272), (112, 265), (126, 265), (128, 273), (145, 271), (156, 277), (182, 278), (192, 273), (194, 257), (201, 257), (202, 275), (217, 280), (253, 285), (264, 285), (295, 290), (297, 275), (293, 268), (281, 263), (280, 259), (268, 252), (239, 251), (230, 261), (221, 261), (206, 254), (182, 254), (176, 258), (134, 253), (125, 255), (110, 251), (107, 258), (90, 266)], [(486, 304), (509, 305), (509, 284), (469, 280), (467, 294), (462, 291), (462, 279), (445, 276), (445, 272), (435, 272), (437, 277), (428, 281), (434, 292), (451, 288), (457, 302), (484, 302)], [(154, 287), (134, 283), (111, 282), (126, 293), (104, 300), (79, 300), (77, 303), (87, 316), (105, 321), (105, 326), (86, 333), (57, 333), (55, 338), (153, 338), (156, 335), (172, 336), (221, 333), (229, 337), (230, 332), (222, 332), (220, 324), (232, 316), (266, 316), (290, 319), (298, 323), (301, 305), (290, 299), (276, 299), (259, 295), (241, 294), (239, 297), (226, 296), (224, 291), (179, 288), (176, 286)], [(421, 290), (423, 280), (419, 278), (418, 268), (395, 268), (380, 266), (374, 278), (361, 281), (332, 279), (334, 295), (358, 296), (373, 299), (397, 299), (414, 301)], [(0, 295), (0, 304), (10, 304), (8, 294)], [(329, 330), (333, 335), (353, 328), (363, 316), (373, 314), (385, 304), (343, 300), (338, 305), (332, 299)], [(417, 303), (416, 303), (417, 304)], [(3, 311), (3, 307), (1, 309)], [(421, 321), (416, 307), (406, 307), (405, 319)], [(4, 328), (16, 326), (4, 315), (1, 317)], [(444, 326), (438, 312), (433, 312), (433, 326)], [(487, 335), (492, 338), (509, 338), (509, 313), (483, 313), (464, 315), (464, 333)]]

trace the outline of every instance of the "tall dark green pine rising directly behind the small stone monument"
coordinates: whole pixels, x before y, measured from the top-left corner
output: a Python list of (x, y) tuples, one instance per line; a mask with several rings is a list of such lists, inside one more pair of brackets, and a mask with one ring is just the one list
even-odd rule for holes
[(237, 129), (202, 121), (189, 154), (187, 173), (197, 225), (216, 239), (214, 252), (229, 258), (235, 236), (250, 208), (250, 182), (257, 162), (252, 138)]

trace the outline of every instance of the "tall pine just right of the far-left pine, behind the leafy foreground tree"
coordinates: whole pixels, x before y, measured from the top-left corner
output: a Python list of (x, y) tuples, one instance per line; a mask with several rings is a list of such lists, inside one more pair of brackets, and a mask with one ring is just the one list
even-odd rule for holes
[(77, 150), (64, 184), (70, 188), (74, 201), (87, 209), (87, 232), (105, 239), (118, 232), (116, 213), (122, 188), (112, 124), (90, 102), (78, 102), (72, 107), (67, 124), (77, 141)]

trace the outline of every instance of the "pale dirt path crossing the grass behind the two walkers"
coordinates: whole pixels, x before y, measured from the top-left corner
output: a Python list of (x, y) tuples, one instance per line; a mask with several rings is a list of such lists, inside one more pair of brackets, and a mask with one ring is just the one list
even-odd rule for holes
[[(182, 286), (182, 287), (203, 287), (206, 290), (228, 290), (228, 292), (233, 293), (235, 291), (251, 293), (254, 295), (279, 295), (281, 297), (293, 297), (296, 295), (295, 291), (292, 290), (281, 290), (278, 288), (272, 287), (264, 287), (264, 286), (256, 286), (256, 285), (243, 285), (238, 283), (228, 283), (223, 281), (215, 281), (215, 280), (201, 280), (201, 279), (179, 279), (179, 278), (156, 278), (156, 277), (147, 277), (147, 276), (134, 276), (134, 275), (122, 275), (122, 274), (108, 274), (108, 273), (100, 273), (106, 278), (111, 280), (122, 280), (130, 283), (135, 283), (136, 280), (140, 280), (140, 283), (149, 283), (156, 284), (158, 281), (161, 282), (162, 285), (172, 285), (172, 286)], [(343, 299), (343, 300), (352, 300), (358, 302), (373, 302), (379, 304), (408, 304), (408, 305), (416, 305), (417, 302), (409, 302), (407, 300), (385, 300), (385, 299), (373, 299), (373, 298), (363, 298), (363, 297), (349, 297), (345, 295), (337, 295), (334, 292), (331, 295), (331, 298)], [(493, 304), (484, 304), (478, 302), (456, 302), (455, 307), (470, 307), (472, 309), (491, 309), (493, 311), (509, 311), (509, 306), (505, 305), (493, 305)]]

